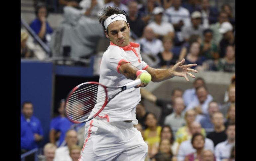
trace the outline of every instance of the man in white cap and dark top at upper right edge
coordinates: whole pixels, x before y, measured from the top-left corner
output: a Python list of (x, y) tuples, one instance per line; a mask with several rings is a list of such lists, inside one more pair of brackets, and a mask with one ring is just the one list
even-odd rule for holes
[(219, 56), (221, 58), (225, 57), (225, 50), (228, 45), (233, 45), (235, 47), (235, 35), (233, 33), (233, 27), (229, 22), (223, 22), (219, 28), (219, 33), (223, 34), (223, 38), (219, 43), (220, 52)]

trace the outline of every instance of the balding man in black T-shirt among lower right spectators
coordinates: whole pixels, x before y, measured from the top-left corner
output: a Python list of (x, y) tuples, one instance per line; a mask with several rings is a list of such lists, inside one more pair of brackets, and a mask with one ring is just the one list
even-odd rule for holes
[(227, 138), (223, 114), (220, 112), (215, 112), (212, 115), (212, 123), (214, 124), (214, 131), (210, 132), (206, 137), (211, 139), (214, 146), (216, 146), (218, 143), (225, 141)]

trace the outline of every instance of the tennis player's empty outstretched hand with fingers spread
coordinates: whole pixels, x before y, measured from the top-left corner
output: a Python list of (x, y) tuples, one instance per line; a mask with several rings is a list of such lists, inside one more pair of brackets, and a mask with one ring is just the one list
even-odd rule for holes
[(196, 66), (197, 64), (188, 64), (188, 65), (183, 65), (183, 63), (185, 62), (185, 59), (182, 59), (181, 62), (178, 62), (177, 64), (175, 64), (173, 66), (173, 74), (175, 76), (179, 76), (179, 77), (184, 77), (187, 81), (189, 81), (188, 77), (187, 77), (187, 74), (189, 76), (191, 76), (192, 78), (195, 78), (195, 76), (189, 72), (194, 72), (194, 73), (197, 73), (196, 70), (194, 69), (191, 69), (189, 67), (192, 67), (192, 66)]

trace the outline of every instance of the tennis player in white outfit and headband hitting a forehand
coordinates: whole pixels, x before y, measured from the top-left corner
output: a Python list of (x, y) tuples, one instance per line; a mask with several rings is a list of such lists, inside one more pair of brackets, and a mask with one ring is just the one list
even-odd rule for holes
[[(99, 83), (107, 87), (120, 87), (139, 79), (142, 72), (150, 73), (153, 82), (174, 76), (185, 77), (189, 81), (187, 74), (195, 77), (189, 71), (197, 71), (189, 67), (196, 64), (182, 65), (185, 59), (172, 69), (149, 67), (141, 59), (139, 44), (129, 41), (130, 27), (126, 13), (116, 7), (106, 7), (104, 11), (99, 22), (111, 42), (101, 60)], [(141, 83), (138, 87), (146, 85)], [(111, 93), (115, 91), (109, 91), (108, 94)], [(127, 89), (113, 98), (96, 118), (88, 121), (85, 124), (85, 142), (79, 161), (144, 161), (148, 146), (140, 131), (133, 127), (133, 124), (138, 123), (135, 109), (140, 100), (140, 88)], [(95, 111), (92, 110), (91, 115)]]

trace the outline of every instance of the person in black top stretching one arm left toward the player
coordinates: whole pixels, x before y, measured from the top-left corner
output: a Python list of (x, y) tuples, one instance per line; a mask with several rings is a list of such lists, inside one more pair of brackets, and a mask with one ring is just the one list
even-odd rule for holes
[(174, 100), (178, 97), (182, 97), (183, 90), (179, 88), (175, 88), (172, 90), (171, 98), (170, 100), (163, 100), (160, 98), (157, 98), (155, 95), (153, 95), (151, 92), (142, 89), (140, 90), (141, 97), (149, 100), (150, 102), (156, 104), (157, 106), (161, 107), (161, 116), (159, 120), (160, 125), (164, 125), (164, 121), (166, 116), (171, 114), (173, 112), (173, 103)]

